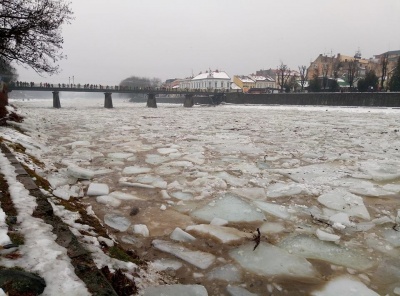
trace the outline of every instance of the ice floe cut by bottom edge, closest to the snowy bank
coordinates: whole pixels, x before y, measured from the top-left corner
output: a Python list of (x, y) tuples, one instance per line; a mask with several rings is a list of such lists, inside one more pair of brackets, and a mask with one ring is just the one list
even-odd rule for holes
[(201, 285), (161, 285), (148, 287), (144, 290), (143, 296), (208, 296), (206, 288)]

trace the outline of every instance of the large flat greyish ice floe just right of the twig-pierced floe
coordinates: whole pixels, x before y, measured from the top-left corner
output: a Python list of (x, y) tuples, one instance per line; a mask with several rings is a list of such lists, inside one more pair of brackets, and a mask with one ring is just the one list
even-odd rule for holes
[(360, 250), (355, 248), (350, 250), (335, 243), (320, 241), (303, 234), (289, 236), (283, 239), (278, 246), (291, 254), (297, 254), (308, 259), (328, 261), (356, 270), (365, 270), (375, 264)]

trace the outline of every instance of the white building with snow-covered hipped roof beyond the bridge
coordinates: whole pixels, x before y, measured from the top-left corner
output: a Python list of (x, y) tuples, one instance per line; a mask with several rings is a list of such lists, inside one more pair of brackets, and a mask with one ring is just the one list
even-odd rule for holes
[(231, 78), (223, 71), (200, 73), (190, 81), (191, 89), (228, 90)]

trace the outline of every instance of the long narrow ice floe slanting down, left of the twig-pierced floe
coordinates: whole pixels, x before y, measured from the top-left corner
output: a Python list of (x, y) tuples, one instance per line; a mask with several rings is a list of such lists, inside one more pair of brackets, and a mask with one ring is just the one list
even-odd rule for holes
[(153, 246), (160, 251), (172, 254), (201, 269), (210, 267), (210, 265), (215, 261), (215, 256), (213, 254), (202, 251), (192, 251), (186, 247), (183, 247), (181, 244), (174, 244), (163, 240), (154, 240)]

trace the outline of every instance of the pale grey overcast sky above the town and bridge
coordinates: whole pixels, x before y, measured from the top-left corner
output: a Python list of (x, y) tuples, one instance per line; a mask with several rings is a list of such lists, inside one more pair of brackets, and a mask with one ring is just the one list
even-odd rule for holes
[(309, 65), (320, 53), (400, 50), (400, 0), (72, 0), (60, 74), (19, 80), (118, 84), (219, 69), (247, 75)]

